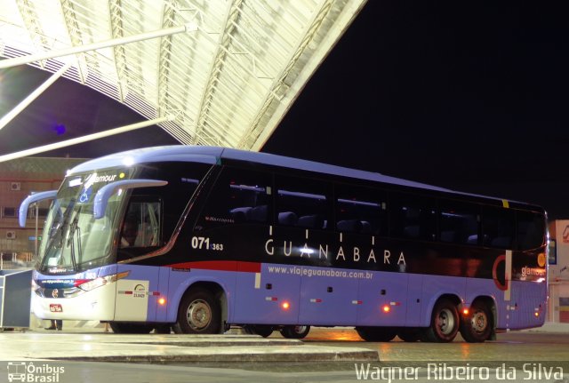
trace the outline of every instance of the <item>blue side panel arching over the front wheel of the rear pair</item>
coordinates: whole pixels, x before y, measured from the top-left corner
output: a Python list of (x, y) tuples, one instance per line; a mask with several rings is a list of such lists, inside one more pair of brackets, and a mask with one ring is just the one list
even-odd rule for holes
[(437, 300), (442, 295), (453, 295), (464, 299), (468, 278), (461, 276), (423, 275), (421, 305), (421, 327), (428, 327)]

